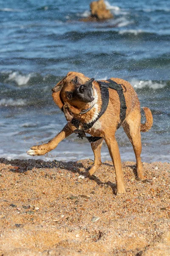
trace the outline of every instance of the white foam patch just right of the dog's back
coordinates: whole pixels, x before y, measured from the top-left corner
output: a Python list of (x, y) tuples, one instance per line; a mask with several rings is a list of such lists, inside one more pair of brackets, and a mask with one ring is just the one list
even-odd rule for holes
[(159, 88), (164, 88), (166, 86), (166, 83), (157, 83), (151, 80), (137, 80), (137, 79), (133, 79), (130, 84), (136, 88), (136, 89), (142, 89), (144, 87), (149, 87), (152, 89), (159, 89)]

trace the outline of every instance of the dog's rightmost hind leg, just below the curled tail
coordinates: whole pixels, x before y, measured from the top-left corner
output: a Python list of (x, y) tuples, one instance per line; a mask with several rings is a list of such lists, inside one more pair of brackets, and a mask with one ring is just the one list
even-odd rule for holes
[(141, 143), (141, 133), (140, 133), (140, 126), (141, 126), (140, 111), (134, 109), (134, 111), (127, 116), (122, 126), (133, 146), (133, 150), (136, 157), (137, 176), (141, 180), (144, 180), (143, 165), (141, 161), (142, 143)]

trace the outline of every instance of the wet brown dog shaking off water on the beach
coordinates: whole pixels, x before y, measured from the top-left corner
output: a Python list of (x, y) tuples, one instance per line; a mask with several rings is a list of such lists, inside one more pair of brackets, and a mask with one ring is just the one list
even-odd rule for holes
[[(136, 156), (137, 175), (144, 179), (143, 166), (141, 162), (141, 131), (148, 131), (153, 124), (153, 116), (149, 108), (143, 108), (146, 116), (145, 124), (141, 124), (140, 103), (136, 92), (127, 81), (118, 78), (111, 78), (121, 88), (123, 88), (123, 97), (125, 99), (125, 117), (121, 122), (121, 100), (118, 90), (108, 88), (109, 99), (105, 112), (97, 119), (99, 112), (102, 111), (105, 101), (102, 99), (101, 86), (94, 79), (89, 80), (82, 73), (69, 72), (59, 83), (52, 89), (54, 102), (65, 114), (68, 121), (62, 131), (57, 134), (48, 143), (33, 146), (27, 151), (31, 156), (44, 155), (57, 147), (58, 143), (68, 137), (73, 132), (80, 131), (98, 137), (98, 140), (91, 142), (91, 148), (94, 152), (94, 166), (88, 171), (88, 175), (93, 175), (101, 165), (101, 147), (102, 141), (105, 140), (113, 161), (116, 172), (117, 194), (125, 193), (124, 177), (121, 167), (119, 147), (115, 139), (117, 128), (122, 125)], [(110, 80), (110, 81), (111, 81)], [(105, 81), (104, 85), (108, 83)], [(113, 82), (114, 83), (114, 82)], [(116, 84), (115, 83), (115, 84)], [(97, 120), (96, 120), (97, 119)], [(78, 126), (73, 120), (78, 120)], [(91, 124), (88, 130), (85, 125)], [(84, 133), (85, 134), (85, 133)]]

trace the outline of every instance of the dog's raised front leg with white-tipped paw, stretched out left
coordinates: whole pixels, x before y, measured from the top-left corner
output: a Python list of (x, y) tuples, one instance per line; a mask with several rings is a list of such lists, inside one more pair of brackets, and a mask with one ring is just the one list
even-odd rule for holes
[(68, 124), (65, 125), (65, 127), (62, 129), (62, 131), (59, 132), (59, 134), (56, 135), (52, 140), (50, 140), (48, 143), (32, 146), (28, 151), (27, 154), (30, 156), (41, 156), (49, 151), (53, 150), (57, 147), (58, 143), (62, 140), (64, 140), (66, 137), (68, 137), (70, 134), (72, 134), (73, 131), (71, 128), (68, 127)]

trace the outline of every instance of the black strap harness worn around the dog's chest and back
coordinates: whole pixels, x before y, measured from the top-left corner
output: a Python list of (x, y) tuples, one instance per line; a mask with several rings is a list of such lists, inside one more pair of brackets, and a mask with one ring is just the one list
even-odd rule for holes
[[(102, 137), (86, 136), (85, 131), (90, 129), (94, 125), (94, 123), (105, 113), (105, 111), (108, 107), (108, 102), (109, 102), (108, 88), (116, 90), (118, 95), (119, 95), (119, 100), (120, 100), (120, 122), (117, 125), (117, 129), (122, 125), (122, 122), (125, 120), (125, 117), (126, 117), (127, 107), (126, 107), (126, 102), (125, 102), (125, 96), (123, 94), (123, 92), (126, 92), (125, 86), (122, 85), (122, 84), (117, 84), (115, 81), (113, 81), (111, 79), (108, 79), (106, 81), (108, 81), (108, 83), (102, 82), (102, 81), (96, 81), (96, 82), (98, 82), (98, 84), (100, 86), (100, 92), (101, 92), (101, 97), (102, 97), (102, 108), (101, 108), (97, 118), (94, 121), (92, 121), (88, 124), (81, 123), (78, 119), (75, 119), (75, 118), (73, 118), (71, 120), (71, 124), (74, 125), (77, 128), (76, 130), (74, 130), (74, 133), (77, 133), (78, 137), (80, 139), (83, 139), (83, 137), (87, 138), (90, 143), (102, 139)], [(123, 91), (122, 86), (125, 88), (125, 91)], [(82, 130), (78, 129), (79, 125), (82, 125)]]

